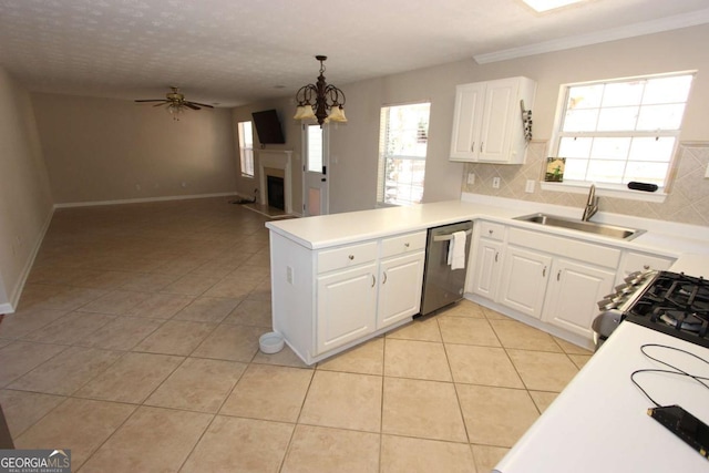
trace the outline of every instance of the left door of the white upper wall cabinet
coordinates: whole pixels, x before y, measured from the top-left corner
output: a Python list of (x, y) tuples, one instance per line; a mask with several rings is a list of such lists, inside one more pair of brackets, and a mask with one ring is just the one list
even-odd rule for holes
[(451, 160), (453, 161), (477, 160), (484, 92), (484, 83), (455, 88), (455, 112), (451, 137)]

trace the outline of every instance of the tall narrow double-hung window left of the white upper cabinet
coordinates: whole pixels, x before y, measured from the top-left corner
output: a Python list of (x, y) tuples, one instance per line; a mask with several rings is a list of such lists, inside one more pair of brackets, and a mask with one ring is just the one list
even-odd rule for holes
[(421, 203), (430, 110), (428, 102), (381, 109), (378, 205)]

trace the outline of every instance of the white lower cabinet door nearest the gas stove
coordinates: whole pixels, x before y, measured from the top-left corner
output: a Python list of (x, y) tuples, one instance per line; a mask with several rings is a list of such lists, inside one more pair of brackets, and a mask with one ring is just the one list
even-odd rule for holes
[(598, 315), (598, 302), (610, 292), (615, 271), (579, 261), (556, 259), (544, 304), (545, 322), (590, 339), (590, 323)]

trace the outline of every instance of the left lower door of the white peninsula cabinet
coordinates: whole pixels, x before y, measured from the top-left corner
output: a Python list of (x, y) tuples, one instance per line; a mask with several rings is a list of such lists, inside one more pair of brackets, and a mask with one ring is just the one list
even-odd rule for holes
[(374, 331), (377, 264), (318, 277), (316, 354)]

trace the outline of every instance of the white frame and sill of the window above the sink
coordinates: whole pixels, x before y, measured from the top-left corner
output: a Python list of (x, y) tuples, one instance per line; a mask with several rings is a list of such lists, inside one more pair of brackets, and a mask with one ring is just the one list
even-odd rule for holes
[[(689, 90), (687, 92), (687, 99), (684, 102), (685, 109), (682, 111), (681, 120), (679, 121), (677, 130), (656, 130), (656, 131), (594, 131), (594, 132), (564, 132), (562, 126), (564, 125), (564, 120), (567, 113), (568, 106), (568, 94), (572, 88), (585, 86), (585, 85), (597, 85), (597, 84), (614, 84), (614, 83), (624, 83), (624, 82), (634, 82), (634, 81), (648, 81), (653, 79), (662, 79), (662, 78), (678, 78), (684, 75), (691, 75), (691, 83), (689, 85)], [(596, 80), (596, 81), (583, 81), (583, 82), (574, 82), (574, 83), (565, 83), (559, 86), (558, 100), (556, 105), (556, 115), (554, 119), (554, 127), (552, 131), (552, 138), (549, 142), (549, 152), (548, 156), (558, 156), (558, 150), (561, 147), (563, 137), (672, 137), (675, 140), (674, 147), (669, 155), (667, 173), (664, 178), (664, 185), (659, 186), (659, 189), (656, 193), (647, 193), (640, 191), (633, 191), (627, 188), (627, 184), (614, 184), (614, 183), (598, 183), (593, 181), (572, 181), (564, 179), (562, 183), (551, 183), (542, 181), (541, 187), (544, 191), (558, 191), (558, 192), (572, 192), (572, 193), (585, 193), (588, 191), (588, 186), (590, 184), (595, 184), (596, 188), (599, 191), (600, 195), (609, 196), (609, 197), (620, 197), (620, 198), (634, 198), (640, 200), (649, 200), (649, 202), (664, 202), (667, 193), (671, 189), (672, 179), (675, 178), (675, 169), (677, 166), (677, 150), (680, 145), (679, 137), (681, 135), (684, 120), (687, 113), (687, 106), (689, 105), (689, 100), (691, 97), (691, 91), (696, 82), (696, 70), (687, 70), (687, 71), (675, 71), (667, 73), (658, 73), (658, 74), (645, 74), (637, 76), (627, 76), (627, 78), (616, 78), (616, 79), (605, 79), (605, 80)], [(639, 106), (639, 105), (638, 105)], [(599, 111), (604, 107), (600, 106)], [(590, 158), (589, 158), (590, 160)], [(625, 163), (629, 162), (628, 156), (625, 157)], [(629, 177), (633, 181), (633, 177)]]

